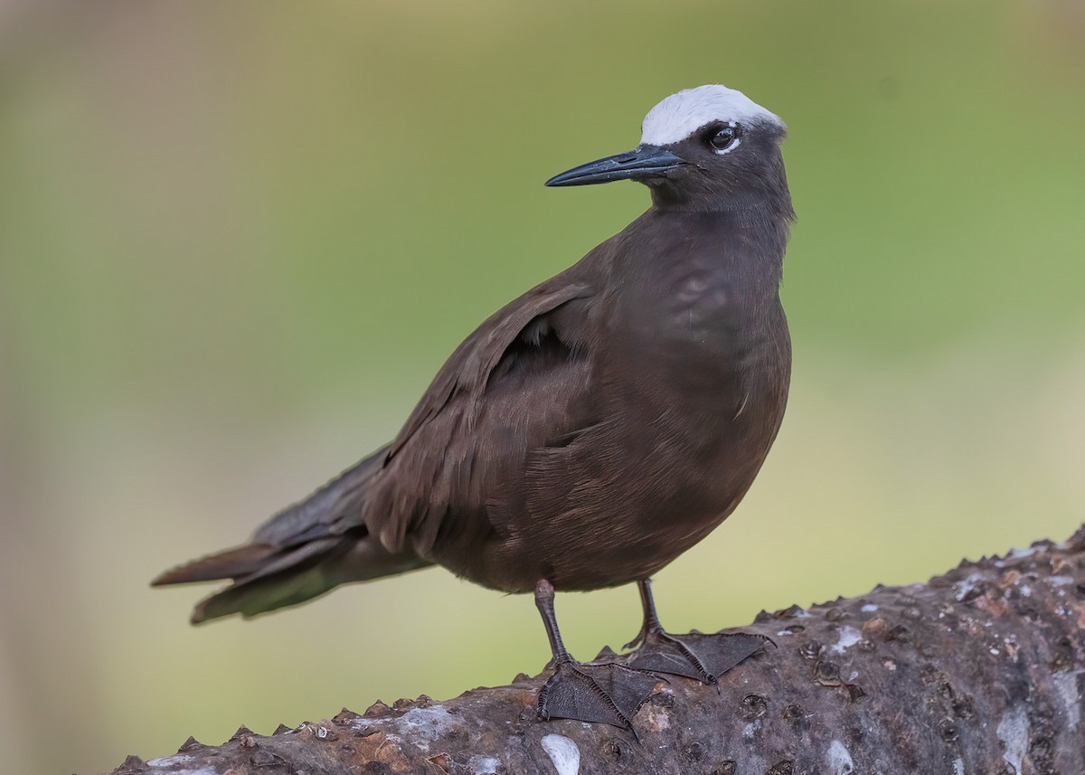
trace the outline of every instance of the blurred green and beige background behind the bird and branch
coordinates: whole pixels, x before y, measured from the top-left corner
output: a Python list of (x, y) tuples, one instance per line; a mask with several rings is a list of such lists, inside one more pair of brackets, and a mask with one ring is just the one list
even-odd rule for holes
[[(158, 571), (392, 436), (647, 206), (548, 190), (723, 81), (789, 123), (792, 403), (659, 575), (676, 631), (1085, 518), (1085, 12), (1035, 2), (0, 3), (0, 751), (110, 770), (548, 658), (436, 569), (203, 628)], [(574, 653), (631, 588), (559, 599)], [(55, 725), (55, 726), (54, 726)]]

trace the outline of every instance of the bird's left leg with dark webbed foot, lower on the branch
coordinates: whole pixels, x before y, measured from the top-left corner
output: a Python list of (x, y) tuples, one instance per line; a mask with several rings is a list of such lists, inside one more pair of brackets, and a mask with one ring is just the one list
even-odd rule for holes
[(633, 716), (659, 679), (651, 673), (621, 664), (582, 664), (574, 660), (558, 630), (553, 585), (545, 579), (535, 585), (535, 605), (542, 615), (553, 655), (553, 675), (539, 689), (536, 703), (539, 717), (574, 719), (633, 729)]

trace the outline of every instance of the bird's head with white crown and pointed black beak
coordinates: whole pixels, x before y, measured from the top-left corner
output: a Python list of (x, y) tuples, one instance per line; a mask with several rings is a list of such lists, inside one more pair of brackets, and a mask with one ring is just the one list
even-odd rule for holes
[(550, 178), (547, 186), (636, 180), (659, 206), (713, 209), (751, 196), (787, 198), (779, 116), (741, 91), (699, 86), (644, 116), (640, 144)]

